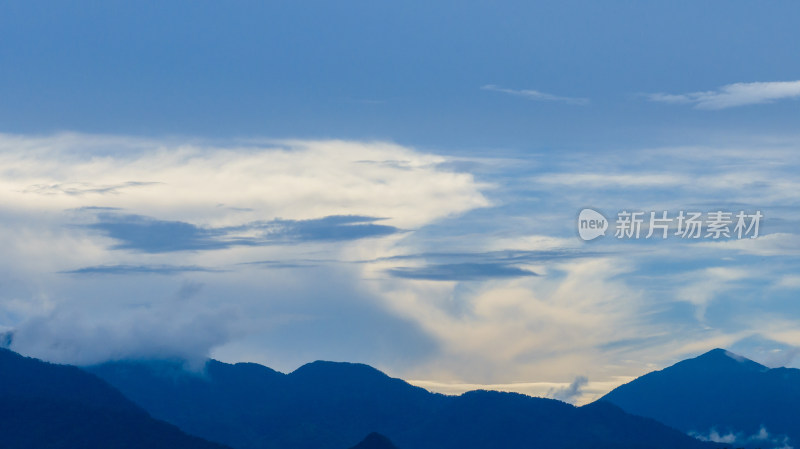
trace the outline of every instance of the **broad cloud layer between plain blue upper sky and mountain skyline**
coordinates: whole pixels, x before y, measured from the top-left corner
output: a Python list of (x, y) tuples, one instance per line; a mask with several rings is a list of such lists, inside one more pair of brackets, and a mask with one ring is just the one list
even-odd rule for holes
[[(63, 362), (361, 361), (445, 392), (576, 403), (713, 347), (796, 363), (787, 142), (452, 158), (2, 135), (0, 333)], [(584, 207), (765, 219), (747, 241), (585, 243)]]

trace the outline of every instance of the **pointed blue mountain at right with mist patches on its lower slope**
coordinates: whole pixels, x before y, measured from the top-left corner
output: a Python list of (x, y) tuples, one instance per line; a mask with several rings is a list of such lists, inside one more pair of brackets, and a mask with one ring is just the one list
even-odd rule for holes
[(642, 376), (602, 400), (731, 445), (800, 444), (800, 370), (769, 369), (722, 349)]

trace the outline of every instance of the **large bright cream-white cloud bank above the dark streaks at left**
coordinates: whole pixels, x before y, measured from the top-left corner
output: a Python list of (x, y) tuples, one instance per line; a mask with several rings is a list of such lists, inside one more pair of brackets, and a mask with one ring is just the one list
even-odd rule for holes
[(215, 147), (0, 135), (0, 202), (36, 211), (112, 206), (215, 226), (368, 215), (416, 227), (488, 205), (472, 175), (437, 169), (445, 161), (382, 142)]

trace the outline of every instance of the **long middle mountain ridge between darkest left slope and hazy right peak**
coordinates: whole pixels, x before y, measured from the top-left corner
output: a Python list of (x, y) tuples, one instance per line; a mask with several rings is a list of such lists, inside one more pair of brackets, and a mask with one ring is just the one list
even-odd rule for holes
[[(237, 449), (511, 447), (710, 449), (609, 403), (574, 407), (520, 394), (433, 394), (360, 364), (314, 362), (291, 374), (209, 361), (201, 373), (169, 362), (88, 368), (154, 417)], [(358, 447), (358, 446), (356, 446)]]

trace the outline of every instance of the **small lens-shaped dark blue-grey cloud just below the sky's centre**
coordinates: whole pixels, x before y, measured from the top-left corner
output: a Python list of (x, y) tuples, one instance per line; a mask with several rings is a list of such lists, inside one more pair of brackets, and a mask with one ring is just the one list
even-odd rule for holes
[(392, 268), (387, 272), (398, 278), (430, 281), (477, 281), (492, 278), (538, 276), (533, 271), (503, 263), (453, 263), (425, 267), (400, 267)]

